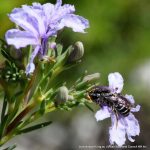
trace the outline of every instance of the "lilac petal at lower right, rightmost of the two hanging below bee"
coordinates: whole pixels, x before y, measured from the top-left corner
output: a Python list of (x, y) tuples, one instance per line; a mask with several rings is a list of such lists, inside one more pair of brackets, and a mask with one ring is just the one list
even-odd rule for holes
[(134, 142), (132, 136), (139, 135), (140, 133), (139, 123), (132, 113), (130, 113), (129, 116), (125, 117), (124, 120), (127, 125), (126, 132), (127, 132), (128, 139), (131, 142)]

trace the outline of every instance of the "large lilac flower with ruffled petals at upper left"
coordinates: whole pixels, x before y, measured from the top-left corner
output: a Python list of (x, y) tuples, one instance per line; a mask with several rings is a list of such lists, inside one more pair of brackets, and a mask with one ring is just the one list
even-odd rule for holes
[(34, 51), (26, 68), (26, 73), (34, 71), (34, 58), (39, 55), (42, 58), (47, 53), (48, 38), (56, 36), (57, 32), (64, 27), (72, 28), (74, 32), (85, 33), (89, 27), (85, 18), (75, 15), (73, 5), (65, 4), (57, 0), (55, 5), (46, 3), (33, 3), (32, 6), (23, 5), (15, 8), (9, 18), (18, 25), (19, 29), (11, 29), (6, 32), (6, 40), (17, 49), (32, 45)]

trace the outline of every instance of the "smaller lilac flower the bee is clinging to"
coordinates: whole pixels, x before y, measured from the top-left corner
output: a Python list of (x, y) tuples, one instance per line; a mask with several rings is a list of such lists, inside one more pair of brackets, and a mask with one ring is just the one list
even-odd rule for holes
[[(119, 94), (123, 88), (123, 78), (120, 73), (115, 72), (111, 73), (108, 76), (109, 88), (112, 93)], [(126, 99), (134, 105), (134, 99), (132, 95), (125, 95)], [(112, 125), (109, 128), (109, 141), (111, 144), (116, 143), (118, 146), (122, 146), (125, 144), (126, 135), (131, 142), (134, 142), (132, 136), (139, 135), (140, 127), (137, 119), (134, 117), (132, 112), (138, 112), (140, 110), (140, 106), (137, 105), (135, 108), (131, 108), (128, 116), (122, 116), (118, 114), (118, 118), (116, 117), (114, 111), (108, 106), (102, 106), (102, 108), (97, 111), (95, 114), (96, 120), (104, 120), (106, 118), (111, 117)]]

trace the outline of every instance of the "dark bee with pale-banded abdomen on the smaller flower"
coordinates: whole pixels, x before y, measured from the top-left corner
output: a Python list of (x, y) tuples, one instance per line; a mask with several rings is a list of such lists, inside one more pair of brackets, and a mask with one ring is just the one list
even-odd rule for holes
[(129, 115), (132, 104), (120, 93), (113, 93), (108, 86), (95, 86), (88, 92), (88, 97), (100, 107), (108, 106), (114, 111), (118, 120), (118, 114), (126, 117)]

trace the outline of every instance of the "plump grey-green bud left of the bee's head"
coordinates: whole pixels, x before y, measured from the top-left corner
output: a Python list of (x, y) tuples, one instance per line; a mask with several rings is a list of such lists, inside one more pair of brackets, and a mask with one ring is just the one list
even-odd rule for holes
[(62, 86), (58, 89), (56, 95), (56, 104), (62, 104), (68, 100), (68, 89), (65, 86)]

